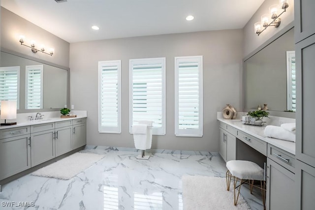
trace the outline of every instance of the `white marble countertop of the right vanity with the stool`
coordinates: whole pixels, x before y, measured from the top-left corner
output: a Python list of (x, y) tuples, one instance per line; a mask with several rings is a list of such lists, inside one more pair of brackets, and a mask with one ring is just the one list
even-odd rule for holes
[(268, 144), (276, 146), (282, 150), (285, 150), (285, 151), (295, 155), (295, 143), (285, 141), (285, 140), (266, 137), (264, 135), (264, 130), (265, 130), (266, 126), (255, 126), (255, 125), (243, 124), (240, 119), (226, 120), (226, 119), (218, 117), (217, 120), (224, 122), (224, 123), (236, 128), (240, 131), (248, 133), (248, 134), (264, 141), (264, 142), (267, 142)]

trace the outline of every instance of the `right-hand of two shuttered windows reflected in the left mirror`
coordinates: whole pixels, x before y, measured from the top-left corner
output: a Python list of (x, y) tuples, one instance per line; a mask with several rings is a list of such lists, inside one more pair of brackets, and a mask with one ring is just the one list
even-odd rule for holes
[(43, 69), (44, 65), (25, 67), (25, 109), (43, 108)]

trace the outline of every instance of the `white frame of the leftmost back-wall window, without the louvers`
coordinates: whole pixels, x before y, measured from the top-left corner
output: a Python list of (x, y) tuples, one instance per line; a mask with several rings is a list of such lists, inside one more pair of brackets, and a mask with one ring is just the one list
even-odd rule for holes
[[(101, 98), (102, 98), (102, 66), (113, 66), (117, 65), (117, 120), (118, 125), (117, 126), (102, 126), (101, 125), (101, 116), (102, 116), (102, 110), (101, 110)], [(121, 133), (121, 69), (122, 69), (122, 62), (121, 60), (104, 60), (104, 61), (98, 61), (98, 132), (99, 133)]]

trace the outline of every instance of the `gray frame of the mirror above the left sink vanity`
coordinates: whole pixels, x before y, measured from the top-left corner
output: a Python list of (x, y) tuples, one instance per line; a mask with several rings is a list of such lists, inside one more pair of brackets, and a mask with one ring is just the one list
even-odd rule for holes
[[(69, 101), (70, 101), (70, 89), (69, 89), (69, 87), (70, 87), (69, 86), (69, 83), (70, 83), (70, 68), (64, 67), (62, 65), (58, 65), (56, 63), (52, 63), (52, 62), (49, 62), (49, 61), (46, 61), (46, 60), (37, 59), (37, 58), (34, 58), (32, 56), (24, 55), (22, 53), (18, 53), (18, 52), (12, 51), (12, 50), (8, 50), (8, 49), (5, 49), (3, 47), (0, 48), (0, 51), (4, 52), (4, 53), (11, 54), (11, 55), (14, 55), (14, 56), (18, 56), (18, 57), (21, 57), (21, 58), (33, 60), (33, 61), (36, 61), (36, 62), (40, 62), (40, 63), (43, 63), (43, 64), (51, 65), (51, 66), (54, 66), (54, 67), (66, 70), (67, 71), (67, 97), (66, 97), (67, 101), (66, 101), (66, 104), (67, 104), (67, 107), (69, 107)], [(60, 111), (60, 109), (62, 109), (62, 108), (63, 107), (61, 107), (61, 108), (45, 108), (45, 109), (23, 109), (23, 110), (18, 109), (17, 113), (19, 114), (19, 113), (31, 113), (31, 112), (52, 112), (52, 111)]]

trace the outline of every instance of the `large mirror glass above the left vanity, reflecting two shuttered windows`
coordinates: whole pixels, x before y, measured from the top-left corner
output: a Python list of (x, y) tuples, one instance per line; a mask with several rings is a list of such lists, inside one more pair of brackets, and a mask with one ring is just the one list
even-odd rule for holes
[(17, 112), (56, 111), (67, 105), (68, 69), (1, 49), (1, 100), (17, 100)]

